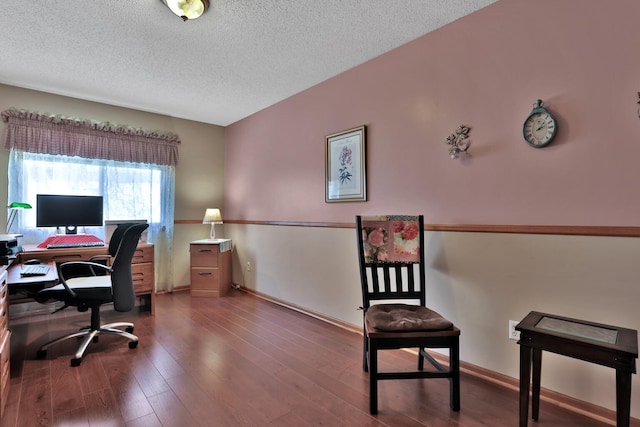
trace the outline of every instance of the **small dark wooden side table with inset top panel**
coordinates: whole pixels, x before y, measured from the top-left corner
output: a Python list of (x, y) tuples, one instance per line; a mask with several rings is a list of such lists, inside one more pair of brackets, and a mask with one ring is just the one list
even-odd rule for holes
[(520, 427), (527, 427), (532, 366), (531, 418), (538, 419), (543, 350), (614, 368), (616, 425), (629, 427), (638, 331), (536, 311), (522, 319), (516, 330), (520, 331)]

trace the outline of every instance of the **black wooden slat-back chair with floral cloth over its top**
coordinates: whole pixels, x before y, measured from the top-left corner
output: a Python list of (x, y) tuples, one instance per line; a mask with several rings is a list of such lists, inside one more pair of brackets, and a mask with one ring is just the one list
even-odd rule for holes
[[(448, 378), (450, 407), (459, 411), (460, 330), (426, 307), (423, 216), (356, 216), (356, 230), (369, 412), (378, 413), (379, 380), (409, 378)], [(418, 349), (418, 370), (378, 372), (378, 350), (400, 348)], [(448, 348), (449, 368), (427, 348)], [(424, 370), (425, 359), (435, 370)]]

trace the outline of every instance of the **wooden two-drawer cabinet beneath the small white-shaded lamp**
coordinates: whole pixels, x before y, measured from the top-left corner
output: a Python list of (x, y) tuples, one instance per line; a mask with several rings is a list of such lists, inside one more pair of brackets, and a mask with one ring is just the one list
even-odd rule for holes
[(231, 240), (203, 239), (189, 245), (191, 296), (221, 297), (231, 289)]

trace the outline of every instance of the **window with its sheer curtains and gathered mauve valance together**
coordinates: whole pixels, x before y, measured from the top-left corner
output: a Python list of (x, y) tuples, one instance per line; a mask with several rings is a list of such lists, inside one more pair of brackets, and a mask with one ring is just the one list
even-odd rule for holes
[[(180, 137), (110, 122), (9, 108), (4, 147), (9, 154), (9, 199), (35, 206), (37, 194), (97, 195), (105, 218), (146, 219), (154, 243), (156, 290), (173, 288), (175, 165)], [(50, 229), (35, 227), (35, 209), (14, 223), (22, 244), (42, 242)], [(101, 227), (86, 233), (104, 236)]]

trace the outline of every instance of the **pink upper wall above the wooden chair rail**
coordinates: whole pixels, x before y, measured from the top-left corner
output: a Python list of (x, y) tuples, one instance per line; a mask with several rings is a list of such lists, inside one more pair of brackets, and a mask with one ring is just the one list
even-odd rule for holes
[[(640, 226), (640, 2), (502, 0), (226, 129), (225, 219)], [(536, 99), (559, 123), (534, 149)], [(325, 136), (368, 130), (368, 201), (325, 203)], [(470, 156), (445, 137), (471, 127)]]

